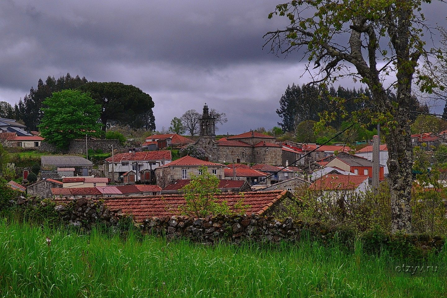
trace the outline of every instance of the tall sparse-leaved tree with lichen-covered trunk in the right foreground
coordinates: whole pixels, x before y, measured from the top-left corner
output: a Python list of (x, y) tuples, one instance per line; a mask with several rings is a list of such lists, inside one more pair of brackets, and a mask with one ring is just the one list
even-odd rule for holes
[[(411, 0), (294, 0), (269, 15), (285, 16), (289, 25), (265, 35), (265, 46), (274, 53), (297, 50), (308, 58), (306, 71), (316, 74), (314, 82), (351, 76), (370, 89), (369, 108), (354, 118), (380, 122), (386, 133), (393, 232), (412, 231), (411, 93), (419, 59), (428, 54), (421, 38), (421, 5)], [(395, 99), (388, 97), (390, 88)]]

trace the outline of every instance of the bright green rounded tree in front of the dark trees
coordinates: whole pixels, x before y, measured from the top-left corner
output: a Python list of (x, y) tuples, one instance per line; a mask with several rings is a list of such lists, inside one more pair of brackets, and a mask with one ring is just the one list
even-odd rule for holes
[(101, 105), (95, 105), (88, 94), (67, 89), (54, 92), (43, 104), (48, 108), (42, 109), (39, 128), (46, 142), (63, 149), (70, 140), (82, 139), (86, 134), (101, 136)]

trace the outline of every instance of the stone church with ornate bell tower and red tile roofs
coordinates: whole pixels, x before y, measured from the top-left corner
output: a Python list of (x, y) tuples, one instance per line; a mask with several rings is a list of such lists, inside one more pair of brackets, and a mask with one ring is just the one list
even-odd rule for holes
[(282, 146), (275, 138), (249, 131), (232, 137), (215, 140), (215, 119), (210, 116), (207, 104), (200, 119), (200, 136), (196, 146), (205, 150), (209, 161), (219, 163), (282, 164)]

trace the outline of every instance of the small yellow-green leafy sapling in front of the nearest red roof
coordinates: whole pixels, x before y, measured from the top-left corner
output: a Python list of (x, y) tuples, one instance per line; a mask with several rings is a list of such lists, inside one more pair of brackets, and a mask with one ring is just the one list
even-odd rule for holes
[(202, 174), (198, 176), (191, 174), (190, 183), (182, 188), (186, 205), (179, 206), (181, 214), (196, 218), (210, 214), (230, 214), (227, 202), (218, 202), (215, 197), (220, 193), (219, 179), (208, 172), (207, 167), (200, 167), (199, 171), (202, 171)]

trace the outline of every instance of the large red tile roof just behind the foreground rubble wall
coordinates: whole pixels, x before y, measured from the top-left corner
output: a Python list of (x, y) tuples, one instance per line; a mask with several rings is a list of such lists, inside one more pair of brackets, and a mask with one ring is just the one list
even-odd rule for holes
[[(240, 199), (244, 205), (249, 205), (245, 210), (247, 214), (262, 214), (276, 201), (288, 196), (286, 190), (274, 190), (266, 192), (247, 192), (242, 197), (239, 193), (221, 193), (216, 198), (222, 202), (227, 201), (230, 208), (234, 208)], [(66, 203), (67, 199), (55, 198), (54, 201)], [(179, 214), (178, 206), (186, 203), (181, 194), (150, 197), (115, 197), (105, 198), (104, 203), (111, 210), (121, 209), (122, 212), (132, 214), (137, 221), (152, 217), (166, 217)]]

